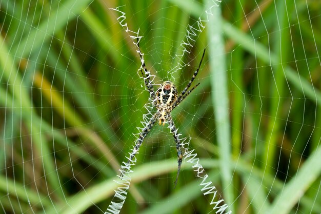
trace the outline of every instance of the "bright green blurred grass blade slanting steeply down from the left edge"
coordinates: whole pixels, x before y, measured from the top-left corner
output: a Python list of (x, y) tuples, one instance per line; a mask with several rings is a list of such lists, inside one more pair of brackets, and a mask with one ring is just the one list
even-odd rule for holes
[[(31, 134), (31, 144), (37, 149), (39, 159), (44, 168), (45, 176), (48, 177), (49, 183), (52, 185), (53, 189), (62, 190), (56, 170), (54, 168), (54, 161), (52, 160), (52, 153), (49, 149), (49, 143), (47, 142), (44, 134), (41, 132), (41, 122), (38, 119), (37, 113), (32, 108), (32, 103), (30, 96), (26, 90), (23, 90), (24, 83), (22, 77), (20, 76), (18, 69), (16, 68), (11, 54), (9, 54), (3, 37), (0, 35), (0, 66), (3, 70), (3, 78), (7, 81), (9, 89), (12, 93), (12, 104), (5, 103), (5, 107), (12, 106), (16, 110), (16, 116), (18, 119), (23, 118), (23, 123), (28, 127), (28, 131)], [(8, 91), (7, 91), (8, 93)], [(8, 94), (7, 94), (8, 95)], [(61, 196), (63, 196), (62, 191), (56, 191)]]

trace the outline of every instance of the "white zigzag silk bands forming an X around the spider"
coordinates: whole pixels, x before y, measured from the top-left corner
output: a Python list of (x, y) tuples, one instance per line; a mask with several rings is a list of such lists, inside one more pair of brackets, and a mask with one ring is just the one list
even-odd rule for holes
[[(213, 7), (218, 7), (219, 3), (221, 1), (220, 0), (213, 0), (212, 2), (213, 2), (213, 5), (208, 10), (205, 11), (206, 18), (204, 20), (202, 20), (202, 18), (199, 17), (198, 21), (194, 25), (188, 25), (185, 38), (184, 38), (183, 42), (180, 44), (180, 47), (183, 48), (182, 54), (176, 55), (176, 57), (178, 59), (178, 65), (176, 67), (174, 67), (173, 69), (171, 69), (171, 72), (177, 72), (178, 70), (184, 68), (187, 65), (182, 60), (185, 53), (190, 53), (191, 48), (193, 47), (199, 33), (201, 33), (204, 30), (204, 28), (206, 26), (205, 24), (207, 22), (209, 22), (209, 17), (210, 17), (210, 15), (212, 15), (211, 9)], [(143, 64), (145, 64), (144, 54), (142, 52), (140, 52), (139, 47), (138, 47), (139, 41), (141, 40), (142, 36), (139, 36), (139, 29), (137, 32), (135, 32), (135, 31), (132, 31), (128, 28), (128, 25), (126, 23), (126, 13), (121, 11), (119, 8), (120, 7), (111, 8), (111, 10), (114, 10), (114, 11), (120, 13), (120, 15), (117, 18), (118, 23), (125, 29), (125, 31), (132, 38), (133, 44), (136, 46), (137, 53), (141, 54), (141, 56), (142, 56), (141, 57), (141, 67), (138, 69), (138, 73), (139, 73), (140, 70), (144, 70)], [(145, 75), (144, 75), (144, 77), (141, 76), (141, 78), (145, 78), (145, 79), (150, 78), (151, 81), (153, 82), (155, 75), (150, 74), (150, 72), (148, 70), (144, 71), (144, 72), (145, 72)], [(170, 74), (172, 74), (171, 72), (170, 72)], [(148, 83), (148, 84), (150, 84), (150, 83)], [(145, 85), (145, 89), (148, 90), (146, 85)], [(147, 109), (148, 113), (143, 115), (143, 121), (141, 122), (143, 127), (138, 128), (139, 133), (135, 134), (137, 139), (138, 139), (138, 136), (141, 133), (141, 131), (144, 129), (144, 127), (148, 126), (148, 123), (153, 115), (152, 114), (153, 99), (151, 98), (151, 96), (149, 97), (148, 103), (146, 103), (144, 107)], [(225, 201), (222, 199), (220, 194), (217, 192), (216, 187), (213, 185), (213, 183), (211, 181), (208, 180), (209, 176), (205, 172), (205, 169), (202, 166), (202, 164), (199, 163), (199, 158), (197, 157), (196, 151), (194, 149), (189, 150), (189, 143), (190, 143), (191, 138), (190, 137), (181, 138), (182, 134), (178, 133), (178, 129), (173, 129), (173, 127), (172, 127), (173, 125), (171, 125), (168, 122), (167, 122), (167, 124), (168, 124), (168, 128), (170, 130), (174, 130), (174, 131), (171, 131), (171, 133), (173, 135), (175, 135), (175, 137), (177, 139), (180, 140), (181, 146), (183, 148), (184, 161), (192, 164), (192, 168), (195, 172), (195, 177), (198, 180), (200, 180), (200, 183), (199, 183), (200, 190), (203, 192), (205, 197), (211, 199), (210, 205), (211, 205), (212, 209), (215, 211), (215, 213), (219, 213), (219, 214), (232, 213), (232, 211), (229, 210), (228, 205), (225, 203)], [(109, 204), (105, 214), (116, 214), (121, 211), (121, 209), (126, 201), (126, 198), (127, 198), (127, 191), (129, 189), (129, 185), (131, 182), (130, 173), (133, 172), (133, 170), (131, 168), (132, 168), (132, 166), (136, 165), (137, 159), (135, 157), (135, 154), (138, 153), (138, 150), (139, 149), (136, 149), (135, 145), (133, 145), (133, 148), (131, 149), (128, 156), (126, 157), (126, 159), (128, 161), (124, 161), (121, 166), (121, 169), (119, 169), (119, 171), (121, 172), (121, 176), (118, 175), (118, 178), (120, 180), (114, 180), (114, 182), (116, 182), (119, 186), (115, 190), (115, 195), (114, 195), (111, 203)], [(130, 158), (130, 157), (132, 157), (132, 158)]]

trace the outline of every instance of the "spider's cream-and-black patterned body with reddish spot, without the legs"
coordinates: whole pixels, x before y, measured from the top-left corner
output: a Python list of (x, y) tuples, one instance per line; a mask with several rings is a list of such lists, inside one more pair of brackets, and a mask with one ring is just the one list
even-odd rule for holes
[(177, 90), (174, 84), (170, 81), (164, 82), (156, 91), (156, 100), (154, 105), (159, 113), (159, 125), (165, 122), (170, 117), (170, 112), (173, 110), (173, 104), (177, 100)]

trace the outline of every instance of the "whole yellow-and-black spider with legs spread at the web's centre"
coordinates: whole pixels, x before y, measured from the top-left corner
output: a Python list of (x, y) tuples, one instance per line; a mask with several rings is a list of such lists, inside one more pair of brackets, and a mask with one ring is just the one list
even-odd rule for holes
[[(202, 61), (203, 61), (206, 49), (204, 49), (202, 59), (200, 59), (198, 68), (194, 72), (191, 80), (189, 81), (187, 86), (184, 88), (184, 90), (178, 94), (176, 90), (176, 86), (171, 81), (165, 81), (159, 86), (159, 88), (156, 91), (154, 90), (152, 81), (150, 79), (150, 72), (147, 70), (145, 65), (145, 61), (143, 57), (144, 54), (141, 52), (141, 49), (139, 48), (139, 41), (137, 41), (137, 48), (138, 48), (137, 52), (139, 53), (139, 57), (141, 58), (141, 63), (142, 63), (141, 68), (144, 69), (144, 71), (141, 69), (141, 73), (142, 73), (142, 76), (144, 77), (146, 88), (150, 93), (150, 98), (153, 101), (153, 106), (156, 108), (157, 111), (156, 113), (154, 113), (152, 118), (143, 128), (141, 133), (139, 133), (139, 137), (135, 142), (133, 152), (130, 153), (130, 157), (127, 163), (130, 163), (133, 160), (133, 158), (135, 157), (135, 154), (138, 152), (144, 139), (146, 138), (147, 134), (150, 132), (151, 128), (154, 126), (156, 121), (158, 121), (159, 125), (163, 123), (163, 126), (165, 125), (165, 123), (168, 123), (170, 127), (170, 131), (173, 133), (174, 141), (176, 143), (176, 150), (177, 150), (178, 170), (177, 170), (176, 180), (174, 182), (176, 187), (180, 166), (182, 165), (183, 154), (181, 150), (182, 145), (180, 143), (180, 139), (178, 138), (178, 135), (175, 134), (177, 133), (177, 128), (175, 127), (174, 122), (172, 120), (171, 112), (175, 107), (179, 105), (179, 103), (181, 103), (186, 98), (186, 96), (188, 96), (199, 85), (199, 83), (197, 83), (192, 89), (189, 90), (190, 86), (192, 85), (192, 82), (194, 81), (198, 73), (200, 66), (202, 65)], [(122, 173), (121, 178), (123, 178), (123, 176), (124, 174)]]

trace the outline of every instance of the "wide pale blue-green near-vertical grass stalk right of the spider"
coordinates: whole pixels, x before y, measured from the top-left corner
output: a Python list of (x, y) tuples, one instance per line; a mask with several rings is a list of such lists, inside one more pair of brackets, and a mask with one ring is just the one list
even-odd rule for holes
[[(212, 6), (207, 1), (207, 7)], [(225, 48), (222, 30), (222, 14), (220, 7), (212, 7), (209, 16), (207, 38), (208, 57), (210, 62), (211, 98), (215, 115), (215, 127), (219, 148), (220, 178), (223, 183), (224, 199), (230, 210), (233, 209), (233, 182), (231, 168), (231, 133), (229, 119), (228, 73), (226, 72)]]

